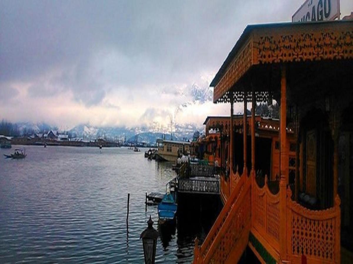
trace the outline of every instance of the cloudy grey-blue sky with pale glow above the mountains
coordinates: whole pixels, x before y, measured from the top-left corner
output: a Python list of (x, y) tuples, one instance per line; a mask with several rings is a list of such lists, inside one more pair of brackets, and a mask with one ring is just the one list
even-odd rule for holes
[(0, 0), (0, 119), (70, 129), (229, 115), (195, 91), (210, 92), (246, 25), (291, 21), (303, 2)]

